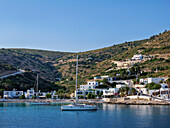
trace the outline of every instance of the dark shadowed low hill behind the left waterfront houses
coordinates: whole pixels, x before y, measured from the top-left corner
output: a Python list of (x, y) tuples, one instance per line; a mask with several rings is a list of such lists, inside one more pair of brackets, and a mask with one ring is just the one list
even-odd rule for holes
[[(3, 78), (0, 81), (0, 89), (12, 90), (13, 88), (17, 90), (26, 91), (30, 88), (35, 88), (37, 75), (35, 72), (25, 72), (23, 74), (18, 74), (16, 76), (10, 76)], [(39, 78), (39, 90), (41, 91), (51, 91), (58, 90), (60, 87), (54, 82), (47, 81), (45, 79)]]

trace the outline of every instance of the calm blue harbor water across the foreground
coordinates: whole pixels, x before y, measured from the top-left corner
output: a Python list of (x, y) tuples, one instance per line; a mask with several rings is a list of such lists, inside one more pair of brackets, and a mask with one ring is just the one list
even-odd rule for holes
[(0, 128), (168, 128), (170, 106), (98, 104), (98, 111), (64, 111), (61, 104), (0, 103)]

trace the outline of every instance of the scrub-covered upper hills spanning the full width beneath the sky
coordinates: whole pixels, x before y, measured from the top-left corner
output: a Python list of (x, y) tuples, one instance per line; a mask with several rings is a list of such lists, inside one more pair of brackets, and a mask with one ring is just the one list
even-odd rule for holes
[[(147, 73), (148, 76), (170, 76), (170, 31), (151, 36), (149, 39), (124, 42), (77, 54), (79, 55), (79, 84), (86, 83), (95, 75), (114, 77), (120, 72), (127, 74), (125, 71), (105, 71), (116, 67), (113, 60), (123, 61), (130, 59), (134, 54), (154, 57), (152, 60), (136, 65), (141, 71), (152, 70)], [(0, 62), (12, 65), (14, 70), (37, 71), (42, 79), (56, 82), (57, 85), (73, 87), (72, 85), (75, 84), (75, 53), (3, 48), (0, 49)], [(61, 81), (57, 82), (55, 78), (61, 78)]]

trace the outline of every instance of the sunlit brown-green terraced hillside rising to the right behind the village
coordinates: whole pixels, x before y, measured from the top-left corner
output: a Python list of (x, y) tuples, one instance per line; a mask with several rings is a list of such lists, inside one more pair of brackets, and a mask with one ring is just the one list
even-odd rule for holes
[[(165, 31), (159, 35), (151, 36), (149, 39), (125, 42), (113, 45), (108, 48), (79, 53), (79, 82), (86, 83), (86, 80), (95, 75), (109, 75), (105, 71), (109, 68), (116, 67), (113, 60), (123, 61), (130, 59), (134, 54), (153, 55), (158, 58), (157, 61), (146, 62), (140, 64), (140, 68), (145, 69), (156, 68), (157, 66), (168, 66), (170, 57), (170, 31)], [(159, 60), (163, 58), (164, 60)], [(67, 59), (68, 60), (68, 59)], [(74, 77), (75, 61), (58, 64), (59, 71), (62, 72), (64, 78)], [(152, 64), (148, 64), (152, 63)], [(159, 64), (158, 64), (159, 63)], [(156, 76), (169, 76), (169, 67), (165, 68), (165, 73)], [(112, 74), (114, 77), (115, 75)], [(68, 84), (68, 82), (64, 82)]]

